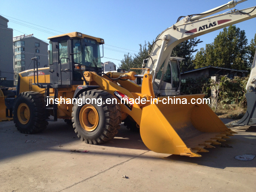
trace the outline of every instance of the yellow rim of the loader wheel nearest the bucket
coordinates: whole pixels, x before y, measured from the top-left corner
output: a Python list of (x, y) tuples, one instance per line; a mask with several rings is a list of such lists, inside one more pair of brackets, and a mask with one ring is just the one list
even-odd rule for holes
[(84, 105), (79, 113), (79, 121), (84, 130), (94, 131), (99, 123), (99, 114), (95, 107), (91, 104)]

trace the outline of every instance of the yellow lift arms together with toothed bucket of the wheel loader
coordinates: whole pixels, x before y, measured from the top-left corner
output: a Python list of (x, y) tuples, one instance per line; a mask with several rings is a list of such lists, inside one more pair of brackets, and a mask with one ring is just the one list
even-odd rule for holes
[[(124, 73), (109, 72), (108, 75), (116, 77)], [(144, 144), (154, 152), (201, 157), (198, 153), (208, 152), (205, 148), (212, 148), (212, 144), (220, 144), (220, 141), (225, 141), (225, 138), (235, 133), (226, 127), (206, 103), (189, 103), (193, 98), (202, 100), (204, 94), (158, 97), (152, 102), (151, 99), (155, 98), (155, 95), (150, 74), (144, 75), (141, 88), (130, 81), (118, 80), (122, 86), (120, 87), (116, 81), (108, 80), (106, 75), (102, 78), (95, 73), (84, 72), (84, 76), (113, 96), (115, 91), (119, 91), (133, 100), (139, 97), (149, 100), (143, 105), (134, 103), (132, 110), (124, 104), (120, 104), (120, 107), (123, 113), (130, 115), (137, 122)], [(140, 92), (129, 92), (126, 88)], [(163, 99), (166, 99), (164, 102), (173, 99), (173, 103), (164, 104)], [(174, 104), (176, 99), (186, 99), (187, 104)]]

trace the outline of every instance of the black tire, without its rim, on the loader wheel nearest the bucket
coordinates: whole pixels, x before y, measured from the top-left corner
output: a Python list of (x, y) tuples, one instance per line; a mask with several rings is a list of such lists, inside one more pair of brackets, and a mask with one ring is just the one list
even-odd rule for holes
[(98, 113), (98, 125), (95, 130), (89, 132), (83, 129), (80, 124), (79, 114), (84, 103), (81, 106), (74, 103), (72, 112), (72, 122), (77, 133), (78, 138), (82, 141), (90, 144), (100, 144), (107, 142), (115, 137), (120, 129), (121, 123), (121, 110), (118, 104), (106, 104), (105, 100), (108, 98), (114, 98), (110, 93), (101, 90), (91, 90), (83, 92), (77, 98), (101, 98), (102, 105), (91, 104)]

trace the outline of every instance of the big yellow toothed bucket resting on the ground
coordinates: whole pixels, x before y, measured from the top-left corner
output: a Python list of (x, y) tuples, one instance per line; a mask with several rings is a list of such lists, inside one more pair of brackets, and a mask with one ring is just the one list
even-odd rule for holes
[[(189, 157), (201, 157), (199, 152), (208, 152), (212, 144), (221, 144), (231, 131), (219, 117), (205, 104), (192, 104), (204, 94), (169, 97), (187, 104), (148, 105), (142, 110), (140, 135), (145, 145), (157, 153), (177, 154)], [(159, 100), (168, 97), (159, 97)], [(164, 100), (166, 102), (166, 100)], [(174, 102), (173, 102), (174, 103)], [(178, 102), (179, 103), (179, 102)]]

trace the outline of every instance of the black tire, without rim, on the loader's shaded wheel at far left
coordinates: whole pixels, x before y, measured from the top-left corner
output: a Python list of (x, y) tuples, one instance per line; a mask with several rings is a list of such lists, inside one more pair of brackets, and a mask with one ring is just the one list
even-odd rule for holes
[[(27, 104), (30, 110), (30, 118), (26, 124), (19, 121), (17, 110), (22, 103)], [(34, 134), (46, 129), (48, 122), (45, 115), (44, 96), (38, 92), (28, 91), (20, 93), (13, 104), (13, 119), (17, 130), (24, 134)]]

